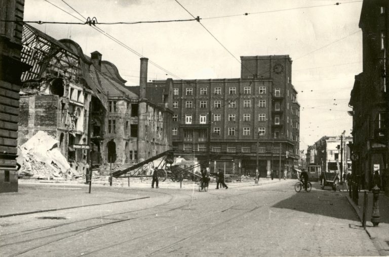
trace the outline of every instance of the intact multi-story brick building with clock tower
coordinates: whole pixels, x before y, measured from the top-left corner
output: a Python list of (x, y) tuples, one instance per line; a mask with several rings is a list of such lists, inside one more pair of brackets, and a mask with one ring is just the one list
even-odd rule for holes
[(286, 174), (297, 168), (299, 159), (300, 105), (292, 85), (292, 60), (248, 56), (241, 62), (241, 78), (173, 82), (173, 148), (187, 159), (206, 160), (209, 142), (211, 152), (231, 161), (211, 163), (211, 171), (225, 168), (251, 175), (258, 156), (262, 177), (279, 170), (281, 155)]

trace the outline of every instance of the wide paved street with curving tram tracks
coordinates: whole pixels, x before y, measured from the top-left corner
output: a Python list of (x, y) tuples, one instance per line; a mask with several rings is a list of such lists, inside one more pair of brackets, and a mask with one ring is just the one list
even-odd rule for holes
[(0, 219), (0, 255), (379, 255), (344, 193), (317, 183), (296, 193), (294, 183), (210, 184), (208, 192), (197, 184), (124, 188), (119, 192), (149, 198)]

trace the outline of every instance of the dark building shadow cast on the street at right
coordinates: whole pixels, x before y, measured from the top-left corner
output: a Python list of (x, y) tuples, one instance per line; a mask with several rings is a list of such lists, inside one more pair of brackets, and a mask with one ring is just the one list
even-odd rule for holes
[[(352, 205), (346, 198), (346, 192), (335, 192), (331, 187), (325, 187), (322, 190), (319, 182), (312, 182), (312, 187), (312, 191), (296, 192), (292, 197), (276, 203), (273, 207), (359, 221)], [(294, 190), (294, 185), (291, 189)]]

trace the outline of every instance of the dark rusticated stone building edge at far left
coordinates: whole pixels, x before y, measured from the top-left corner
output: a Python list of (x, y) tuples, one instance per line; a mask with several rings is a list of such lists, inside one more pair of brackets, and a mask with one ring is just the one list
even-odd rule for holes
[(24, 0), (0, 1), (0, 193), (18, 191), (17, 141)]

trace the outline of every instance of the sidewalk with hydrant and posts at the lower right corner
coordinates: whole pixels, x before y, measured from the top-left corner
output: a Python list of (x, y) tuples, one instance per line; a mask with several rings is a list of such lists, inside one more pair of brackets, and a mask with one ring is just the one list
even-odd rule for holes
[[(358, 205), (356, 205), (354, 201), (348, 196), (347, 192), (347, 199), (353, 205), (353, 208), (357, 212), (357, 215), (361, 220), (361, 225), (363, 217), (363, 198), (364, 193), (363, 191), (361, 191), (359, 193)], [(368, 192), (366, 232), (373, 240), (380, 254), (386, 256), (389, 255), (389, 197), (385, 196), (383, 193), (380, 193), (378, 199), (378, 207), (380, 214), (380, 223), (377, 227), (374, 227), (373, 223), (371, 223), (370, 221), (373, 210), (373, 193)]]

